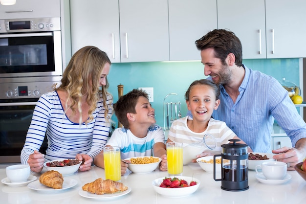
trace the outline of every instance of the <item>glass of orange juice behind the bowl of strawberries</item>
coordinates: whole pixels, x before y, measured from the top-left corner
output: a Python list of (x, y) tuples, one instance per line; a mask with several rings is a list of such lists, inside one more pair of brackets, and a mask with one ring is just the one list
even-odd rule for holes
[(167, 143), (168, 174), (182, 176), (183, 174), (183, 147), (180, 142)]

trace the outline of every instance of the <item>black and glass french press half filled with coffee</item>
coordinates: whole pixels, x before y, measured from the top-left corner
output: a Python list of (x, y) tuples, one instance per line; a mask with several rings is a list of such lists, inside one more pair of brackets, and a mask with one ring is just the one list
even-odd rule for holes
[[(236, 143), (240, 139), (229, 139), (232, 143), (222, 144), (221, 155), (214, 156), (214, 180), (221, 181), (221, 189), (243, 191), (248, 186), (248, 146)], [(221, 179), (216, 179), (216, 157), (221, 156)]]

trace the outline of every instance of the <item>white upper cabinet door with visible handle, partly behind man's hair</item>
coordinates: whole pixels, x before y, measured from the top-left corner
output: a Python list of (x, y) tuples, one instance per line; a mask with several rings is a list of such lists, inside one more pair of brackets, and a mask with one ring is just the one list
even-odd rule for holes
[(243, 59), (266, 58), (264, 0), (218, 0), (218, 28), (234, 32)]

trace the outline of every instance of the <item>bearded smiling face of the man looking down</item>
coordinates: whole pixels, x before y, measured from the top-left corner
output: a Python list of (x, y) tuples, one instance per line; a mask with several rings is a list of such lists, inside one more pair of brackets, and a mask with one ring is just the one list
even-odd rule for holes
[(202, 64), (204, 65), (205, 76), (210, 75), (212, 80), (218, 85), (230, 84), (232, 79), (232, 71), (227, 65), (222, 64), (221, 60), (215, 57), (215, 50), (213, 48), (207, 48), (201, 50)]

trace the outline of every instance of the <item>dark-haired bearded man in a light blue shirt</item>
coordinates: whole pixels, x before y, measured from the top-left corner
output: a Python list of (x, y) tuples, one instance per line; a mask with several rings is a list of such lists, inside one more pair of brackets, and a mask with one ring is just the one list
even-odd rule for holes
[[(213, 117), (225, 121), (254, 152), (271, 152), (274, 118), (290, 137), (294, 149), (273, 150), (274, 159), (288, 163), (288, 170), (306, 157), (306, 123), (288, 92), (273, 77), (242, 64), (242, 46), (236, 35), (215, 29), (196, 41), (204, 74), (220, 87), (219, 109)], [(290, 167), (289, 167), (290, 165)]]

